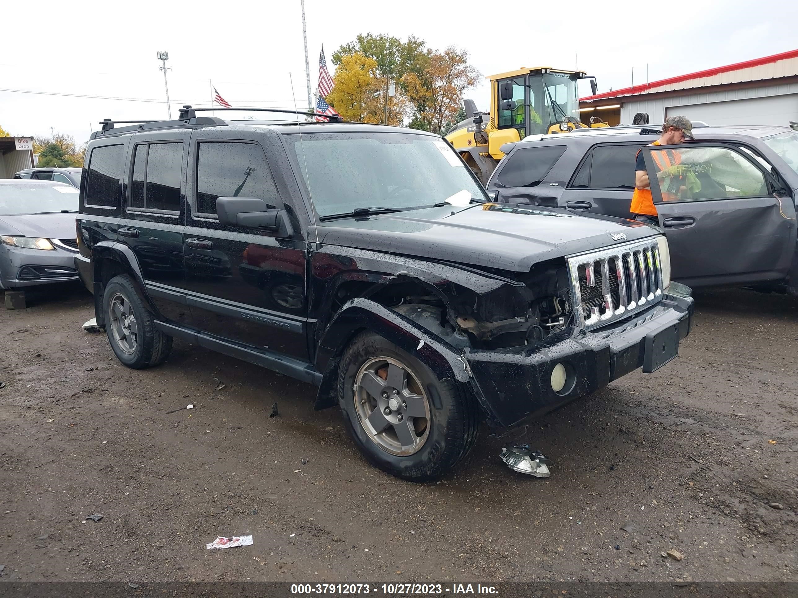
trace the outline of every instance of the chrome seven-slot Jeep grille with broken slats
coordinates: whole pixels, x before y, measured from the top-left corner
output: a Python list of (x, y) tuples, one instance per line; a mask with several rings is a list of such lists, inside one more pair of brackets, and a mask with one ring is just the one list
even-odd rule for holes
[(566, 258), (576, 324), (590, 330), (662, 299), (657, 238)]

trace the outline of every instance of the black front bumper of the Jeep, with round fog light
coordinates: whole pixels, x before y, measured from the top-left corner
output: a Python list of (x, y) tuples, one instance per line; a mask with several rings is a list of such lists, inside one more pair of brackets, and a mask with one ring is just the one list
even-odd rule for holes
[[(654, 307), (615, 326), (594, 332), (575, 328), (555, 332), (533, 347), (466, 353), (472, 386), (488, 411), (488, 423), (513, 426), (603, 388), (638, 368), (647, 372), (658, 367), (653, 341), (658, 341), (658, 350), (662, 349), (663, 335), (678, 343), (692, 325), (689, 289), (673, 283), (669, 292), (674, 294), (666, 294)], [(559, 393), (551, 388), (556, 364), (563, 364), (568, 373)]]

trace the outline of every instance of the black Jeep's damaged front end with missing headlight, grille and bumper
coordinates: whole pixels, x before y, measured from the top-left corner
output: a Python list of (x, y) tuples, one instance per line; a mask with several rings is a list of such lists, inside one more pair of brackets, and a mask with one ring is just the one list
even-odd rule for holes
[[(375, 255), (367, 253), (360, 273)], [(690, 328), (689, 289), (670, 284), (656, 237), (527, 273), (395, 256), (392, 265), (390, 275), (328, 287), (341, 303), (319, 339), (319, 371), (347, 334), (373, 329), (440, 366), (439, 376), (454, 372), (496, 427), (544, 415), (634, 369), (654, 371)]]

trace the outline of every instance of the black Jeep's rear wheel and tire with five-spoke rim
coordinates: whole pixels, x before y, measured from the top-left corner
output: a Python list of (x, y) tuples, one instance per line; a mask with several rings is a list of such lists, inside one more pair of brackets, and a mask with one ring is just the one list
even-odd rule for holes
[(105, 332), (122, 364), (133, 369), (159, 365), (172, 350), (172, 336), (156, 329), (156, 317), (127, 274), (115, 276), (103, 293)]

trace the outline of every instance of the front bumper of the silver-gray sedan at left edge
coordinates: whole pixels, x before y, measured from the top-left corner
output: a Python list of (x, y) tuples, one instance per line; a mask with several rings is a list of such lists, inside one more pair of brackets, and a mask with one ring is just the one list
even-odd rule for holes
[(0, 289), (49, 285), (77, 280), (76, 251), (35, 250), (0, 245)]

